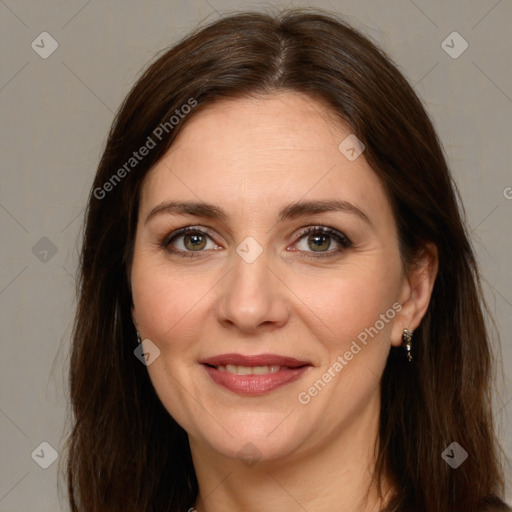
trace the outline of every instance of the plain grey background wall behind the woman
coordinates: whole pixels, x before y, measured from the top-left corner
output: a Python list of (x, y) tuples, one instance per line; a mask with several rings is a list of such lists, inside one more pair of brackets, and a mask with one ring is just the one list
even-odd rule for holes
[[(56, 484), (62, 458), (42, 469), (31, 454), (43, 441), (62, 450), (80, 225), (114, 112), (158, 50), (200, 22), (269, 6), (344, 14), (399, 64), (433, 116), (502, 338), (496, 415), (511, 457), (509, 0), (0, 0), (0, 511), (68, 510)], [(45, 31), (58, 42), (47, 59), (31, 47)], [(469, 44), (456, 59), (441, 46), (453, 31)]]

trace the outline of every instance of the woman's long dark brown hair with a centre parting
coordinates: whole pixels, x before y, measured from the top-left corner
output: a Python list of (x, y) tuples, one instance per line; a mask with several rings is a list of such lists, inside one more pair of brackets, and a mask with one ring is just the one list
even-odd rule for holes
[[(425, 242), (439, 250), (413, 363), (391, 349), (382, 377), (375, 477), (396, 483), (386, 510), (500, 505), (484, 302), (441, 145), (391, 60), (336, 16), (307, 10), (241, 13), (196, 30), (148, 67), (113, 122), (89, 198), (79, 269), (66, 447), (71, 510), (181, 512), (196, 499), (186, 432), (133, 354), (129, 276), (139, 193), (146, 173), (206, 105), (279, 90), (326, 102), (364, 143), (393, 208), (404, 265)], [(143, 146), (149, 150), (135, 158)], [(457, 469), (441, 457), (454, 441), (469, 454)]]

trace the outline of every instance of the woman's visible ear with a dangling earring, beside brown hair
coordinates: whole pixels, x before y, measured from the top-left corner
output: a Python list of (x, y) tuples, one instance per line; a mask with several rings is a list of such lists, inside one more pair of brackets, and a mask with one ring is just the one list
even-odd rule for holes
[(404, 329), (414, 331), (420, 325), (430, 303), (438, 269), (437, 246), (430, 242), (426, 243), (404, 276), (398, 299), (402, 309), (393, 323), (392, 345), (398, 347), (402, 344)]

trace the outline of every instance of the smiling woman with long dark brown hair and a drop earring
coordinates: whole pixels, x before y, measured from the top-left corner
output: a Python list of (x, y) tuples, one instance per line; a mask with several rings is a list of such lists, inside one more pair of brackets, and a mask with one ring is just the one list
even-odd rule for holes
[(509, 510), (442, 149), (335, 17), (235, 15), (156, 60), (80, 272), (73, 511)]

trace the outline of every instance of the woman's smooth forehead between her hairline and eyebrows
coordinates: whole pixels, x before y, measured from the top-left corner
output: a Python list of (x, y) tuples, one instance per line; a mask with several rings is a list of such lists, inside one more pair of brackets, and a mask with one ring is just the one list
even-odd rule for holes
[(142, 206), (201, 200), (240, 213), (241, 202), (245, 211), (268, 211), (343, 199), (389, 214), (364, 153), (351, 161), (339, 149), (350, 135), (324, 103), (298, 93), (216, 102), (186, 122), (149, 172)]

